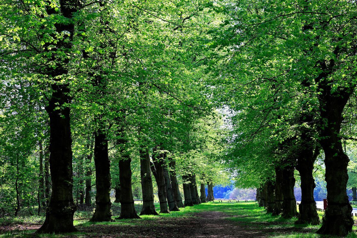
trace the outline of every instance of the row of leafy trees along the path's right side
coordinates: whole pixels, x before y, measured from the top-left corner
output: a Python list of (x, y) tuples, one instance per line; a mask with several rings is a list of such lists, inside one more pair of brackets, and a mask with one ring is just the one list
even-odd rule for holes
[(318, 233), (345, 236), (353, 225), (346, 146), (356, 138), (356, 2), (225, 6), (230, 17), (225, 28), (212, 31), (212, 46), (222, 65), (215, 74), (227, 83), (212, 83), (229, 108), (226, 161), (237, 184), (259, 188), (268, 211), (293, 217), (296, 170), (302, 189), (298, 222), (318, 224), (313, 173), (323, 160), (328, 207)]

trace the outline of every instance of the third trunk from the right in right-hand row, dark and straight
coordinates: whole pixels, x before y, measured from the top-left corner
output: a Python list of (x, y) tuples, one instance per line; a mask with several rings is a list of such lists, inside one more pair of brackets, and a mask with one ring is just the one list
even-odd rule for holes
[[(289, 164), (289, 163), (286, 163)], [(282, 203), (282, 214), (283, 218), (292, 218), (298, 215), (296, 210), (296, 200), (294, 194), (295, 178), (293, 166), (285, 166), (282, 169), (282, 193), (283, 193), (283, 203)]]

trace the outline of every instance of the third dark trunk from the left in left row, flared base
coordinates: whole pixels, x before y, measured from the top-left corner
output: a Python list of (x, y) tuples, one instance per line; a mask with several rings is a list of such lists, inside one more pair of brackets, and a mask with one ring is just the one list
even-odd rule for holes
[(132, 194), (131, 187), (131, 158), (129, 152), (126, 150), (127, 141), (125, 139), (124, 130), (121, 129), (121, 138), (117, 140), (118, 145), (121, 146), (120, 154), (121, 158), (119, 160), (119, 183), (120, 183), (120, 217), (117, 219), (124, 218), (137, 218), (140, 217), (136, 214), (134, 206), (134, 198)]

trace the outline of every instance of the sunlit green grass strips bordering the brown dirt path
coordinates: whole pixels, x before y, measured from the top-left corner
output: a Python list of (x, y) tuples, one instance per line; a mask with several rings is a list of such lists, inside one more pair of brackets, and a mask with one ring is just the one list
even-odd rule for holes
[[(159, 209), (159, 204), (155, 204), (156, 208)], [(90, 227), (93, 224), (97, 226), (130, 226), (133, 229), (140, 229), (142, 226), (146, 226), (148, 224), (156, 224), (156, 220), (158, 221), (158, 226), (160, 226), (159, 222), (161, 219), (175, 219), (175, 218), (187, 218), (194, 216), (195, 213), (200, 212), (223, 212), (227, 216), (225, 219), (231, 221), (232, 224), (236, 224), (237, 226), (241, 226), (243, 229), (247, 229), (247, 232), (250, 230), (260, 231), (262, 234), (265, 234), (270, 238), (327, 238), (331, 236), (322, 236), (318, 235), (315, 232), (320, 226), (312, 226), (309, 224), (295, 224), (296, 218), (292, 219), (284, 219), (280, 216), (273, 217), (271, 214), (267, 214), (266, 211), (258, 207), (256, 202), (210, 202), (204, 203), (200, 205), (195, 205), (193, 207), (181, 208), (178, 212), (171, 212), (168, 214), (162, 214), (161, 216), (141, 216), (142, 219), (122, 219), (116, 220), (115, 222), (89, 222), (90, 213), (88, 212), (79, 212), (75, 216), (74, 225), (81, 230), (81, 228)], [(320, 219), (322, 219), (322, 212), (318, 212)], [(118, 216), (113, 216), (116, 218)], [(160, 219), (160, 220), (158, 220)], [(26, 220), (26, 219), (25, 219)], [(25, 220), (16, 220), (17, 222), (24, 222)], [(15, 222), (16, 222), (15, 221)], [(35, 217), (31, 219), (27, 219), (28, 223), (38, 224), (39, 221), (42, 221), (42, 217)], [(154, 221), (155, 223), (146, 223), (146, 221)], [(106, 226), (108, 227), (108, 226)], [(354, 227), (355, 228), (355, 227)], [(99, 228), (100, 229), (100, 228)], [(82, 229), (83, 230), (83, 229)], [(70, 234), (33, 234), (34, 230), (24, 230), (24, 231), (10, 231), (3, 234), (0, 234), (0, 238), (20, 238), (20, 237), (82, 237), (85, 236), (86, 233), (83, 232), (75, 232)], [(348, 238), (357, 238), (356, 233), (353, 232), (347, 236)]]

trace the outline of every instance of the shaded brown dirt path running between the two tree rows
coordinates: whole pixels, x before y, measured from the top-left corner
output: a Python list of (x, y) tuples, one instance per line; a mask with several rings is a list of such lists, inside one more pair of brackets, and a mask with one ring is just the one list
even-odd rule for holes
[(138, 220), (133, 225), (91, 225), (81, 227), (84, 237), (101, 238), (265, 238), (258, 230), (225, 219), (222, 212), (202, 212), (192, 217), (163, 217)]

